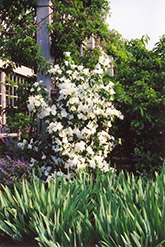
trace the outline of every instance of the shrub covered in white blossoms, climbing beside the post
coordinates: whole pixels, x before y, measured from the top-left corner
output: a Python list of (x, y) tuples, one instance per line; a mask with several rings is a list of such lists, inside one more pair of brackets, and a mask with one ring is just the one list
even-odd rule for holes
[(38, 161), (49, 177), (54, 171), (78, 172), (86, 167), (109, 171), (107, 158), (115, 145), (110, 129), (115, 117), (123, 118), (113, 106), (113, 83), (104, 66), (107, 58), (101, 57), (90, 72), (75, 65), (69, 55), (62, 66), (49, 70), (58, 89), (56, 102), (45, 100), (41, 82), (34, 84), (28, 99), (29, 111), (44, 120), (46, 133), (23, 146), (30, 150), (31, 162)]

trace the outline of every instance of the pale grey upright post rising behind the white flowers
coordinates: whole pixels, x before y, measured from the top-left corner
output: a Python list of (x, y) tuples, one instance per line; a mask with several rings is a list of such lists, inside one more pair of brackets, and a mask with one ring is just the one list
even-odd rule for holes
[[(47, 29), (47, 24), (51, 19), (50, 0), (36, 0), (37, 2), (37, 44), (41, 48), (43, 58), (51, 62), (50, 56), (50, 33)], [(37, 80), (43, 81), (45, 87), (48, 89), (49, 95), (51, 92), (51, 81), (49, 76), (45, 73), (38, 71)]]

